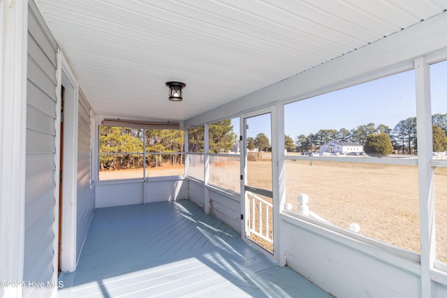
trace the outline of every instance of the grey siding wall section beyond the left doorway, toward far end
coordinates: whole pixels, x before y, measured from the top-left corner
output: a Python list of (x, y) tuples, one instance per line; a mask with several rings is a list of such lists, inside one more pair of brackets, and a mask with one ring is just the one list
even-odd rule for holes
[(91, 182), (91, 119), (90, 106), (79, 93), (78, 101), (78, 190), (77, 190), (77, 226), (76, 226), (76, 260), (78, 260), (82, 244), (95, 208), (95, 184)]

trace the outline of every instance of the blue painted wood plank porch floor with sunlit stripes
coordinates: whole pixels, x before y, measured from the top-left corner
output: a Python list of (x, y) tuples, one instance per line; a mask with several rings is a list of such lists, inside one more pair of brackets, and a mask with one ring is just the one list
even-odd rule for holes
[(96, 209), (59, 297), (331, 297), (189, 200)]

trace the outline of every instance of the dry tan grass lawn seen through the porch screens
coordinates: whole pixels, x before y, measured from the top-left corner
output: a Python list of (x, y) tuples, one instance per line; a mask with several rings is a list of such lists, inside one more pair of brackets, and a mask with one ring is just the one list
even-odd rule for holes
[[(250, 161), (249, 181), (271, 185), (270, 161)], [(237, 190), (235, 162), (213, 165), (214, 181)], [(147, 170), (150, 177), (183, 174), (182, 166)], [(218, 169), (218, 170), (217, 170)], [(101, 171), (100, 178), (142, 177), (139, 170)], [(211, 178), (213, 181), (213, 178)], [(309, 195), (309, 210), (341, 228), (360, 225), (360, 234), (420, 253), (418, 169), (408, 165), (378, 165), (330, 161), (286, 161), (286, 202), (298, 211), (298, 194)], [(437, 258), (447, 262), (447, 168), (435, 169)]]

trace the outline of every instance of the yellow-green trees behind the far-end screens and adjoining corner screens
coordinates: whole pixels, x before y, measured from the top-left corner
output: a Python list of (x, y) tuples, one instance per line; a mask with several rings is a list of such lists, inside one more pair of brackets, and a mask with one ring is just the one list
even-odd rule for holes
[[(208, 126), (210, 152), (221, 153), (233, 149), (237, 135), (231, 120)], [(204, 128), (188, 131), (189, 151), (204, 151)], [(184, 131), (174, 129), (142, 129), (118, 126), (99, 127), (99, 164), (101, 170), (159, 167), (184, 163)], [(146, 144), (144, 144), (146, 142)], [(142, 152), (147, 152), (146, 161)], [(175, 154), (180, 153), (180, 154)]]

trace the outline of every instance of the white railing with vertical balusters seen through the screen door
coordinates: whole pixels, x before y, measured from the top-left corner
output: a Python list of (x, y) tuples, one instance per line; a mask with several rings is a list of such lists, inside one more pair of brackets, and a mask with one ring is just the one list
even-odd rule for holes
[(272, 239), (272, 206), (273, 204), (264, 200), (254, 193), (247, 195), (249, 200), (249, 230), (265, 241), (273, 243)]

